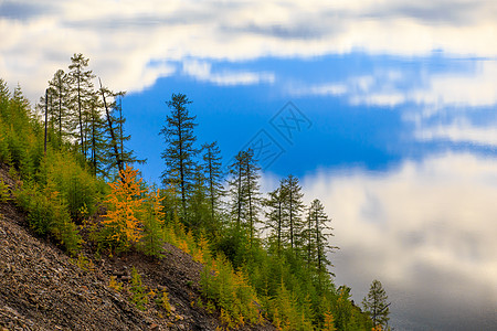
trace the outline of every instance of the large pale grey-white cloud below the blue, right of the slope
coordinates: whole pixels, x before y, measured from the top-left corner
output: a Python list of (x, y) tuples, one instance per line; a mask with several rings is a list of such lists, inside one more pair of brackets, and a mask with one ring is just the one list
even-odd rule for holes
[(448, 153), (387, 173), (321, 172), (303, 186), (332, 217), (337, 284), (356, 300), (379, 278), (398, 330), (496, 325), (497, 160)]

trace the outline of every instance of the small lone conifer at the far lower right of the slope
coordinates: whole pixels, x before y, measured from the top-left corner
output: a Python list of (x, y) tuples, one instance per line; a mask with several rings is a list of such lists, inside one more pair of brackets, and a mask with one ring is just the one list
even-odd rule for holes
[(381, 281), (374, 279), (369, 288), (368, 296), (362, 299), (362, 307), (364, 311), (370, 316), (373, 327), (380, 325), (382, 329), (388, 329), (388, 322), (390, 320), (390, 303), (389, 297), (381, 285)]

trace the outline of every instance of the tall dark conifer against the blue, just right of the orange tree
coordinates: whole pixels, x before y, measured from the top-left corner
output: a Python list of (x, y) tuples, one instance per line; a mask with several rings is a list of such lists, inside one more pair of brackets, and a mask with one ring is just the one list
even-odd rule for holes
[(162, 182), (165, 185), (175, 185), (180, 194), (183, 222), (187, 200), (192, 192), (194, 157), (198, 152), (193, 146), (197, 140), (193, 135), (193, 128), (197, 126), (195, 116), (190, 116), (187, 108), (190, 104), (184, 94), (172, 94), (171, 99), (167, 102), (170, 114), (166, 117), (166, 125), (160, 131), (166, 140), (166, 149), (161, 154), (166, 162)]

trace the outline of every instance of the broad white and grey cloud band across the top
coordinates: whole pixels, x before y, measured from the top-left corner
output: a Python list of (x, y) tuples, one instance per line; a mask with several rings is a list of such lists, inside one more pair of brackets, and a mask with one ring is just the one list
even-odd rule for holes
[[(43, 6), (7, 0), (0, 2), (0, 73), (35, 98), (75, 52), (89, 56), (109, 86), (127, 90), (171, 74), (148, 67), (157, 60), (309, 57), (358, 50), (496, 56), (496, 17), (493, 0), (52, 0)], [(391, 103), (388, 96), (377, 100)]]

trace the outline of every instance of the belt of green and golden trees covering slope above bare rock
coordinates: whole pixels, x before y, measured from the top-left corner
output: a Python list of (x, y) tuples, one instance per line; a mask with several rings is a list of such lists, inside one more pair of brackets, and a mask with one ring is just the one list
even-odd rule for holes
[[(136, 243), (144, 254), (161, 257), (162, 244), (168, 241), (205, 266), (201, 277), (205, 303), (201, 305), (208, 311), (216, 309), (225, 328), (260, 323), (263, 313), (279, 330), (373, 327), (351, 302), (350, 289), (335, 288), (327, 269), (327, 253), (331, 248), (327, 241), (329, 218), (322, 205), (313, 202), (307, 223), (304, 222), (303, 195), (296, 178), (283, 180), (266, 201), (265, 227), (269, 235), (263, 241), (256, 226), (262, 206), (258, 167), (253, 151), (241, 152), (231, 166), (231, 209), (221, 211), (219, 150), (215, 145), (205, 145), (203, 163), (197, 166), (197, 124), (188, 113), (190, 102), (184, 95), (173, 95), (168, 103), (171, 114), (161, 131), (167, 143), (162, 153), (167, 166), (165, 190), (151, 191), (140, 182), (126, 180), (126, 175), (113, 188), (96, 179), (95, 173), (117, 173), (118, 164), (123, 167), (124, 160), (131, 160), (133, 156), (124, 147), (129, 136), (124, 135), (120, 94), (101, 88), (102, 97), (97, 98), (92, 85), (81, 76), (92, 76), (86, 65), (87, 60), (76, 54), (70, 74), (57, 72), (50, 83), (53, 90), (47, 103), (46, 153), (39, 117), (31, 114), (20, 88), (11, 95), (0, 79), (0, 161), (19, 173), (23, 185), (13, 193), (38, 234), (54, 238), (76, 255), (82, 242), (76, 224), (94, 215), (107, 195), (106, 220), (118, 220), (124, 225), (120, 234), (125, 235), (118, 238), (126, 243), (124, 246)], [(78, 79), (84, 90), (77, 90)], [(104, 108), (106, 121), (97, 118)], [(109, 137), (110, 128), (115, 129), (114, 137)], [(2, 190), (0, 182), (0, 199)], [(101, 224), (95, 226), (101, 246), (116, 239), (115, 224), (107, 225), (104, 222), (102, 232)], [(131, 276), (130, 300), (145, 309), (149, 300), (146, 287), (135, 268)], [(119, 288), (118, 284), (115, 286)], [(168, 310), (167, 293), (159, 296), (157, 302)]]

